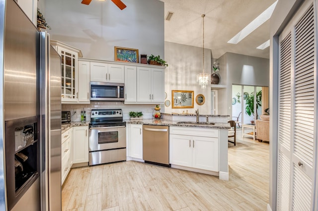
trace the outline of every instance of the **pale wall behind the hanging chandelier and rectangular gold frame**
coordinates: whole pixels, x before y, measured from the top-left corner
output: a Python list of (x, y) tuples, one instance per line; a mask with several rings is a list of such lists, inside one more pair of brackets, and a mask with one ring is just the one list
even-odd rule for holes
[[(203, 71), (203, 51), (202, 48), (186, 46), (176, 43), (164, 42), (165, 60), (169, 64), (165, 68), (165, 86), (167, 100), (171, 101), (172, 90), (194, 91), (194, 108), (172, 108), (164, 107), (165, 113), (182, 113), (188, 110), (194, 113), (199, 109), (200, 114), (210, 114), (211, 112), (211, 84), (209, 83), (205, 89), (201, 89), (196, 81), (196, 75)], [(211, 73), (211, 50), (204, 49), (204, 72)], [(199, 106), (195, 102), (198, 94), (205, 96), (205, 104)]]

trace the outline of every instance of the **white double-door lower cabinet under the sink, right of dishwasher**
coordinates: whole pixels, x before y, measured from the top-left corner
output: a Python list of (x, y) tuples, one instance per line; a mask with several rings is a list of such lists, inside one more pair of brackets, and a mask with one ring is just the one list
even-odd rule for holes
[(170, 127), (170, 163), (219, 171), (217, 129)]

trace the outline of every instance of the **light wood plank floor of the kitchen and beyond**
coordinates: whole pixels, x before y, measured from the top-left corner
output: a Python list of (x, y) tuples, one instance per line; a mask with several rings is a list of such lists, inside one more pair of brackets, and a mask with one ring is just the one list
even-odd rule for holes
[(265, 211), (269, 144), (238, 130), (237, 145), (229, 143), (229, 181), (136, 161), (74, 168), (62, 211)]

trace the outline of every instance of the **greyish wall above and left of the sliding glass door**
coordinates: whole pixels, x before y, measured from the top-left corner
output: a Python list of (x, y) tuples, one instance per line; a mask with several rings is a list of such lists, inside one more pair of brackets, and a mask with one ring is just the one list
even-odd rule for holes
[[(269, 86), (269, 59), (237, 53), (225, 53), (218, 59), (221, 84), (218, 113), (232, 116), (232, 85)], [(230, 118), (232, 119), (232, 118)]]

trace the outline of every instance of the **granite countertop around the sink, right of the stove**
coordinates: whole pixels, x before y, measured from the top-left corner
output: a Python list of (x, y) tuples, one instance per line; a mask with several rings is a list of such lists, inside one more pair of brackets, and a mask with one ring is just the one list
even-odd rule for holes
[(200, 127), (200, 128), (211, 128), (211, 129), (230, 129), (230, 123), (219, 123), (216, 122), (214, 125), (212, 124), (205, 124), (202, 122), (202, 124), (196, 124), (194, 123), (185, 123), (185, 124), (178, 124), (177, 122), (180, 121), (171, 121), (166, 119), (143, 119), (139, 121), (130, 121), (130, 119), (125, 120), (126, 123), (131, 124), (147, 124), (147, 125), (163, 125), (163, 126), (178, 126), (178, 127)]

